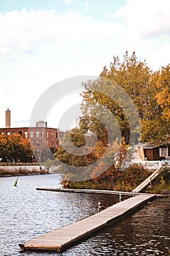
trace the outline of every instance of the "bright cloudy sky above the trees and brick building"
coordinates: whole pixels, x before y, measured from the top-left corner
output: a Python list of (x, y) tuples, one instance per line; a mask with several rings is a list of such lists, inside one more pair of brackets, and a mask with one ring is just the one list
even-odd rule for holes
[[(7, 108), (11, 127), (28, 127), (50, 86), (98, 76), (126, 50), (153, 70), (169, 64), (170, 1), (0, 0), (0, 38), (0, 127)], [(48, 127), (58, 128), (63, 113), (79, 102), (72, 90), (63, 95), (48, 113)]]

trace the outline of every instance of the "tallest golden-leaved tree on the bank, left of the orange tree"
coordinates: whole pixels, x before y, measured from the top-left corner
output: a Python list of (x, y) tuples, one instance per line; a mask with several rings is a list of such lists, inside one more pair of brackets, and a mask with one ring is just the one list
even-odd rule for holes
[[(104, 67), (98, 80), (84, 83), (84, 116), (80, 128), (86, 125), (103, 141), (107, 141), (108, 132), (115, 138), (120, 130), (126, 144), (130, 143), (132, 137), (136, 137), (137, 142), (139, 120), (136, 120), (136, 113), (140, 120), (147, 119), (147, 106), (152, 99), (151, 80), (152, 71), (145, 60), (139, 61), (135, 52), (128, 56), (126, 51), (122, 62), (118, 56), (114, 56), (109, 69)], [(106, 109), (109, 111), (106, 112)], [(107, 128), (102, 126), (103, 116), (107, 116)]]

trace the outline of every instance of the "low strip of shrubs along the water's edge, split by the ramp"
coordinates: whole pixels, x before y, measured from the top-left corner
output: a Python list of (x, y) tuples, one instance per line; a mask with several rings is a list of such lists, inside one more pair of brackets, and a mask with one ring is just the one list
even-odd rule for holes
[[(115, 172), (115, 178), (105, 178), (98, 181), (90, 179), (88, 181), (74, 181), (74, 177), (69, 178), (69, 174), (63, 178), (62, 184), (66, 188), (74, 189), (111, 189), (131, 192), (135, 187), (144, 181), (152, 171), (147, 170), (142, 165), (133, 164), (122, 172)], [(170, 190), (170, 166), (165, 164), (161, 167), (159, 175), (152, 181), (152, 186), (148, 186), (143, 192), (161, 193), (163, 190)]]

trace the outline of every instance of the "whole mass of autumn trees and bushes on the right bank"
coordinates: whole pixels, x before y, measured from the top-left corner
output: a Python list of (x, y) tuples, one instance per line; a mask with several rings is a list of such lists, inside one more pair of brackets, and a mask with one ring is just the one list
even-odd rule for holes
[[(79, 127), (65, 133), (65, 146), (47, 165), (60, 166), (66, 187), (132, 190), (150, 174), (142, 165), (125, 167), (132, 144), (170, 140), (170, 64), (153, 72), (126, 51), (83, 88)], [(159, 177), (155, 191), (167, 182)]]

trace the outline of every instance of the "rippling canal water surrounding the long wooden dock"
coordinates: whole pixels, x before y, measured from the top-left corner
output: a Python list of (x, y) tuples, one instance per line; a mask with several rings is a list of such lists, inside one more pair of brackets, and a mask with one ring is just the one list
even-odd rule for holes
[[(65, 252), (20, 252), (18, 244), (97, 213), (98, 202), (107, 208), (115, 195), (37, 191), (60, 187), (60, 176), (0, 178), (1, 256), (170, 255), (170, 198), (161, 197), (140, 211), (97, 233)], [(125, 198), (123, 198), (125, 199)]]

